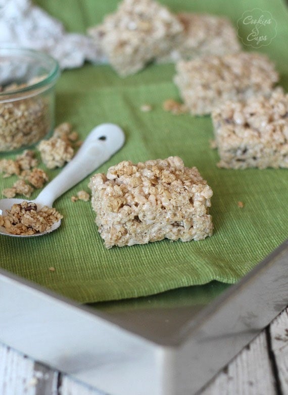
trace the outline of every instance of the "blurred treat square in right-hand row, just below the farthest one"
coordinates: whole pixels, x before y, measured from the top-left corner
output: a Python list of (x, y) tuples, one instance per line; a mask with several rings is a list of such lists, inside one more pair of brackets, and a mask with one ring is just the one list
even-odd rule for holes
[(210, 114), (227, 100), (269, 96), (278, 73), (261, 53), (238, 52), (179, 61), (174, 82), (191, 114)]

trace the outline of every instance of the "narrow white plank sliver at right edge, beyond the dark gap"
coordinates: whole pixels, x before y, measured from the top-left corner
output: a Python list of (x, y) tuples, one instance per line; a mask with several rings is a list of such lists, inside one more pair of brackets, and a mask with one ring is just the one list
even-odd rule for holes
[(277, 368), (279, 393), (288, 393), (288, 308), (270, 325), (271, 346)]

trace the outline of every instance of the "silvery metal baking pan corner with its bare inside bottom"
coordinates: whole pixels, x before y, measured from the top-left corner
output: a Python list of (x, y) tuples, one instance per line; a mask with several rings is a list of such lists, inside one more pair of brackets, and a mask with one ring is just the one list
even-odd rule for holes
[(288, 242), (185, 319), (101, 312), (0, 270), (0, 341), (110, 395), (192, 395), (287, 305)]

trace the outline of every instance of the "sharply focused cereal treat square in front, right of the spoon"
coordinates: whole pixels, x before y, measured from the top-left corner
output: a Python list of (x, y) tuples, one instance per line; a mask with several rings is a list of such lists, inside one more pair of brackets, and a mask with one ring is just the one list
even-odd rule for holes
[(89, 188), (107, 248), (212, 236), (212, 189), (196, 167), (184, 167), (177, 156), (120, 162), (107, 175), (94, 175)]

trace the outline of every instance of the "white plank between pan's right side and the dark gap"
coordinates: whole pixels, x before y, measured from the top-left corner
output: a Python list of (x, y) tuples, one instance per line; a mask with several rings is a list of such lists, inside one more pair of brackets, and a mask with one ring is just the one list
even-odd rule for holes
[(204, 388), (201, 395), (276, 395), (268, 358), (266, 333), (262, 331)]

